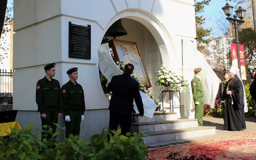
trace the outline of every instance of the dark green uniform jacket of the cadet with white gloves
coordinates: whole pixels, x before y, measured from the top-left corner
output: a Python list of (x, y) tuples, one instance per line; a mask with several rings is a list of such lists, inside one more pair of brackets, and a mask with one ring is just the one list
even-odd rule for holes
[(81, 110), (82, 115), (85, 111), (83, 87), (76, 82), (76, 85), (70, 80), (61, 88), (63, 95), (64, 115), (69, 115), (68, 110)]

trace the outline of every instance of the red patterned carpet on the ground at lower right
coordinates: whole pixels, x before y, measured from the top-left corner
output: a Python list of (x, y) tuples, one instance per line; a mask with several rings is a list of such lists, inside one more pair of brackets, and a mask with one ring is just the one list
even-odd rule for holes
[(185, 156), (201, 154), (213, 160), (256, 160), (256, 133), (237, 133), (149, 151), (149, 158), (165, 160), (170, 152)]

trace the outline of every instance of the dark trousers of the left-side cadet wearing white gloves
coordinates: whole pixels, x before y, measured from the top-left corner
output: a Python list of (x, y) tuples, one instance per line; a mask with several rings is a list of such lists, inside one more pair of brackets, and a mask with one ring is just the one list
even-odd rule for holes
[[(70, 134), (74, 136), (80, 134), (80, 123), (81, 123), (81, 110), (69, 110), (70, 122), (65, 121), (66, 126), (66, 138), (69, 137)], [(64, 116), (65, 119), (65, 116)]]

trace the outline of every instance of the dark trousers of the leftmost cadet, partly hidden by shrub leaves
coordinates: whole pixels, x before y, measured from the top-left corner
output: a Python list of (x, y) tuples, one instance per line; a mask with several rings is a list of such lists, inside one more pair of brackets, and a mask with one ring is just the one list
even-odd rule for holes
[[(47, 111), (45, 110), (44, 113), (46, 114), (46, 119), (41, 118), (41, 122), (42, 122), (42, 130), (48, 130), (45, 129), (43, 126), (47, 125), (47, 126), (51, 126), (51, 128), (53, 129), (52, 133), (56, 132), (56, 125), (54, 125), (53, 123), (58, 123), (58, 111)], [(46, 135), (45, 135), (46, 134)], [(51, 138), (51, 135), (49, 133), (45, 133), (42, 132), (42, 142), (43, 142), (43, 138), (45, 138), (44, 136), (46, 136), (47, 139)]]

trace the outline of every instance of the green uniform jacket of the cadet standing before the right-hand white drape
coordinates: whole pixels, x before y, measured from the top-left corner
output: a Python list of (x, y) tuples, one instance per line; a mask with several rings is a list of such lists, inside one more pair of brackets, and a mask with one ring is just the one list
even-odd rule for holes
[(202, 83), (200, 79), (197, 78), (196, 76), (194, 76), (194, 78), (191, 81), (191, 88), (192, 88), (194, 103), (198, 102), (197, 98), (203, 97), (204, 91), (203, 91)]

